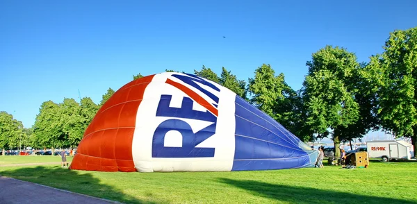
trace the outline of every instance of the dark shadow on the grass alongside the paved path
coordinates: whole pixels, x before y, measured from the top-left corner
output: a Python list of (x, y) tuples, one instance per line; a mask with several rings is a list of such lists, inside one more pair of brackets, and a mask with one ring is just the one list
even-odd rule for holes
[(123, 194), (120, 189), (103, 184), (99, 178), (85, 171), (80, 173), (80, 171), (60, 167), (38, 166), (0, 171), (0, 175), (122, 203), (155, 203)]

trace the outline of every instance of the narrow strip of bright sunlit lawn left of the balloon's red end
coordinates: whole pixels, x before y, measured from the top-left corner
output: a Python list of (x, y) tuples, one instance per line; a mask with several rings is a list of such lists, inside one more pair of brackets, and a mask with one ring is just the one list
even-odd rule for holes
[[(19, 156), (19, 155), (5, 155), (0, 156), (0, 165), (1, 164), (25, 164), (25, 163), (44, 163), (44, 162), (60, 162), (60, 156), (51, 156), (51, 155), (28, 155), (28, 156)], [(67, 162), (71, 162), (72, 157), (67, 157)]]

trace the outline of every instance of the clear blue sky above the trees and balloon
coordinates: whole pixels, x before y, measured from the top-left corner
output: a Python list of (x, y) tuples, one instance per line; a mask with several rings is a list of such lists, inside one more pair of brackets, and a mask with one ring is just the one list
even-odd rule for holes
[(368, 61), (391, 31), (417, 26), (416, 8), (412, 0), (0, 1), (0, 110), (30, 127), (44, 101), (78, 101), (80, 90), (99, 103), (133, 74), (202, 65), (246, 80), (267, 63), (298, 90), (311, 53), (332, 44)]

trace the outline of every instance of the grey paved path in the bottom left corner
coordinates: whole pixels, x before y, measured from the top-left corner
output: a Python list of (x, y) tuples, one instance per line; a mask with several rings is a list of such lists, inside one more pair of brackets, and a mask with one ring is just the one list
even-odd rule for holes
[(62, 189), (0, 176), (0, 203), (117, 203)]

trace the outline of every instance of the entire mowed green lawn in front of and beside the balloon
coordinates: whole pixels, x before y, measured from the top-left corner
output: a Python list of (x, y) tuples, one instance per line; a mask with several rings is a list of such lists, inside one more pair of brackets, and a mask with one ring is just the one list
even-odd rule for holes
[[(0, 156), (0, 164), (15, 159), (60, 162), (52, 156)], [(122, 203), (417, 203), (417, 162), (175, 173), (74, 171), (55, 164), (0, 167), (0, 175)]]

